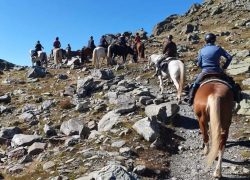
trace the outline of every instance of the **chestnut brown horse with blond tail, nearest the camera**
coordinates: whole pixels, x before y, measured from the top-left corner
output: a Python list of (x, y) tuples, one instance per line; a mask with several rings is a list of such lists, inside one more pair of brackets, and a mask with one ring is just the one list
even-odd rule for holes
[[(222, 156), (228, 138), (233, 109), (233, 92), (221, 81), (209, 81), (201, 85), (194, 99), (194, 112), (199, 120), (205, 144), (207, 165), (211, 166), (218, 156), (214, 177), (221, 177)], [(208, 122), (212, 146), (209, 150)]]

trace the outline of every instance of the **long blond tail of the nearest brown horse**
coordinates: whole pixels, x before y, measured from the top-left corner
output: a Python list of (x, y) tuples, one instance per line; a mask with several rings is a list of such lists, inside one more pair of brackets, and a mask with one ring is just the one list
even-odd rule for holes
[(207, 165), (211, 166), (218, 155), (221, 142), (221, 122), (220, 122), (220, 98), (214, 95), (209, 95), (207, 100), (207, 111), (210, 116), (210, 131), (212, 146), (207, 156)]

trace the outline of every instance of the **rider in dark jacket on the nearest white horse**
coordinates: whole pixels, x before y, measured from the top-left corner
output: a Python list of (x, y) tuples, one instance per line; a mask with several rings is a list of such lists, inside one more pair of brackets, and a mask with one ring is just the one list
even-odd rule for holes
[(168, 57), (176, 57), (177, 56), (177, 47), (176, 44), (172, 41), (173, 40), (173, 36), (172, 35), (168, 35), (164, 48), (163, 48), (163, 57), (156, 63), (156, 75), (158, 75), (160, 73), (160, 64), (163, 60), (166, 60), (166, 58)]

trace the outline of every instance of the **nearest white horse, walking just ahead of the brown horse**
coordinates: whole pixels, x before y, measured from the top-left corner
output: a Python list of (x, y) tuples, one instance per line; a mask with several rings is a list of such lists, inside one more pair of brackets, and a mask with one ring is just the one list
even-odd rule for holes
[[(156, 65), (156, 63), (163, 57), (162, 54), (152, 54), (149, 57), (148, 66)], [(156, 68), (156, 72), (157, 72)], [(177, 89), (177, 100), (178, 103), (181, 102), (181, 94), (184, 86), (184, 80), (185, 80), (185, 69), (184, 69), (184, 63), (179, 59), (173, 59), (168, 63), (168, 66), (166, 69), (160, 69), (161, 73), (158, 75), (158, 78), (160, 80), (160, 91), (161, 94), (163, 93), (163, 77), (167, 77), (168, 74), (170, 75), (176, 89)]]

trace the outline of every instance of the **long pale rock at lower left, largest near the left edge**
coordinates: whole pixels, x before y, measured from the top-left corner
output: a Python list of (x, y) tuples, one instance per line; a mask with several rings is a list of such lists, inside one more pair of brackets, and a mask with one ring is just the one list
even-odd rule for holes
[(42, 137), (38, 135), (15, 134), (11, 140), (11, 146), (29, 146), (41, 140)]

